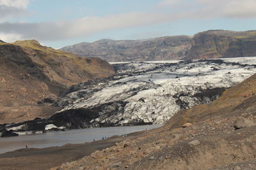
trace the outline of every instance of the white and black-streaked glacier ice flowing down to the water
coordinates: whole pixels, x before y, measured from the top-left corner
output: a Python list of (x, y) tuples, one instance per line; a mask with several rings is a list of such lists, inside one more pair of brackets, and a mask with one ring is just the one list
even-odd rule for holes
[(44, 132), (51, 124), (55, 126), (52, 130), (164, 124), (179, 110), (211, 103), (252, 76), (256, 59), (121, 62), (112, 66), (114, 76), (70, 87), (52, 104), (61, 109), (51, 117), (1, 125), (1, 129), (26, 134)]

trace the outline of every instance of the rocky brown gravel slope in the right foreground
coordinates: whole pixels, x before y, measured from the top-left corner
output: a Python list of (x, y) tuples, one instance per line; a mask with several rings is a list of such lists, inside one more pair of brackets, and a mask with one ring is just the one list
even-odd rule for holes
[(209, 104), (52, 169), (256, 169), (256, 74)]

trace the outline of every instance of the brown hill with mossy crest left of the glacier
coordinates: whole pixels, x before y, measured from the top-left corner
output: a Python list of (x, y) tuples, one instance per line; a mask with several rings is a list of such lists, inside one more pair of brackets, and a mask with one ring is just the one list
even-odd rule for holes
[(26, 40), (0, 43), (0, 123), (49, 117), (71, 85), (114, 73), (108, 62)]

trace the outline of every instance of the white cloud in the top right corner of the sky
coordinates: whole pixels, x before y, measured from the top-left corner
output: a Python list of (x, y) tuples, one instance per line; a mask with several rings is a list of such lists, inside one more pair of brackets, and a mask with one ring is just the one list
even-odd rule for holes
[[(162, 0), (156, 6), (169, 8), (175, 6), (175, 10), (190, 13), (190, 15), (186, 15), (186, 18), (256, 17), (256, 0)], [(184, 8), (184, 6), (187, 8)]]

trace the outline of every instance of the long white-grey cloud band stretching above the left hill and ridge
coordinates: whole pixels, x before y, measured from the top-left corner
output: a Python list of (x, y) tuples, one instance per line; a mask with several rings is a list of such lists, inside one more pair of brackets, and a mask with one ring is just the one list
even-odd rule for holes
[(110, 29), (152, 25), (181, 17), (169, 13), (124, 13), (106, 17), (84, 17), (76, 20), (42, 22), (42, 23), (9, 23), (0, 24), (0, 32), (19, 34), (23, 39), (40, 41), (79, 38), (95, 32)]

